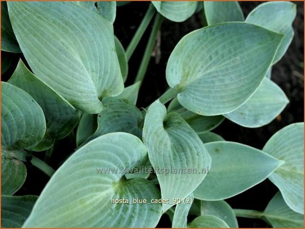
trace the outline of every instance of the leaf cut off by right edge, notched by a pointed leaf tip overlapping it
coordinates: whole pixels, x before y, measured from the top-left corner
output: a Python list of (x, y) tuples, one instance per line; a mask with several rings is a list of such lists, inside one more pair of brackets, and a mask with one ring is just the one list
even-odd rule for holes
[(269, 179), (279, 188), (287, 205), (304, 214), (304, 123), (277, 131), (263, 151), (285, 162)]

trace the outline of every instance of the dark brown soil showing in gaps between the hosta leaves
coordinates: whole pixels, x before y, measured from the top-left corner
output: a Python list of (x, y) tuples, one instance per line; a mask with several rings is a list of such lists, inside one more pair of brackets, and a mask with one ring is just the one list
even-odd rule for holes
[[(262, 1), (242, 1), (239, 2), (246, 17)], [(285, 56), (272, 67), (271, 79), (277, 83), (286, 93), (290, 103), (274, 121), (269, 125), (249, 129), (238, 126), (237, 124), (225, 120), (213, 132), (223, 136), (228, 141), (240, 142), (262, 149), (268, 139), (281, 128), (295, 122), (304, 121), (304, 2), (295, 2), (297, 4), (297, 17), (293, 23), (294, 38), (285, 54)], [(149, 2), (137, 1), (130, 2), (124, 6), (117, 7), (117, 16), (114, 22), (114, 33), (127, 48), (133, 35), (138, 28)], [(152, 20), (153, 21), (153, 20)], [(178, 41), (187, 33), (203, 27), (202, 11), (194, 14), (191, 18), (182, 23), (164, 20), (159, 34), (160, 47), (157, 56), (152, 57), (138, 96), (138, 107), (147, 107), (155, 99), (159, 98), (168, 88), (166, 82), (165, 70), (169, 55)], [(152, 23), (151, 23), (152, 24)], [(126, 86), (133, 84), (138, 66), (143, 57), (144, 49), (151, 31), (152, 25), (144, 33), (138, 47), (129, 61), (129, 74)], [(7, 54), (7, 53), (6, 53)], [(1, 75), (2, 81), (7, 81), (14, 71), (18, 58), (24, 57), (22, 54), (15, 56), (15, 63), (9, 70)], [(52, 160), (49, 164), (55, 169), (66, 159), (76, 148), (75, 131), (68, 137), (56, 142)], [(43, 160), (41, 153), (34, 155)], [(53, 158), (54, 156), (54, 158)], [(39, 195), (48, 182), (48, 177), (37, 168), (28, 165), (28, 176), (23, 187), (15, 194)], [(277, 192), (277, 188), (266, 180), (259, 185), (235, 197), (226, 199), (233, 208), (264, 210), (268, 202)], [(192, 220), (191, 216), (189, 220)], [(270, 227), (264, 221), (259, 219), (237, 218), (240, 228), (266, 228)], [(166, 214), (161, 218), (158, 227), (170, 228), (171, 223)]]

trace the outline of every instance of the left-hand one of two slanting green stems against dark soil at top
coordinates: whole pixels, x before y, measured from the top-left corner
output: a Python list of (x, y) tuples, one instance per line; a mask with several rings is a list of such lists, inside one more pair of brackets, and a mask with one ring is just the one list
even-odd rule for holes
[(128, 61), (130, 60), (131, 56), (133, 55), (133, 53), (136, 49), (136, 46), (138, 45), (140, 39), (142, 38), (142, 35), (144, 34), (145, 30), (147, 29), (155, 12), (156, 12), (156, 8), (154, 7), (154, 5), (152, 3), (150, 3), (148, 10), (147, 10), (141, 24), (137, 28), (133, 39), (131, 40), (130, 44), (128, 45), (128, 47), (126, 49), (126, 57), (127, 57)]

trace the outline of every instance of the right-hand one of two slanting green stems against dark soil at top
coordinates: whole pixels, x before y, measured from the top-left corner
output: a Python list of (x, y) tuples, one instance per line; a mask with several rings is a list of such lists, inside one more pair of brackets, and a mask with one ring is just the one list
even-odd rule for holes
[(138, 82), (138, 81), (140, 81), (140, 83), (142, 83), (142, 81), (143, 81), (143, 78), (144, 78), (146, 70), (147, 70), (147, 66), (148, 66), (149, 61), (150, 61), (151, 53), (152, 53), (152, 51), (154, 49), (154, 46), (155, 46), (155, 41), (156, 41), (156, 38), (157, 38), (157, 34), (158, 34), (158, 31), (161, 28), (163, 19), (164, 19), (163, 16), (161, 14), (157, 13), (152, 31), (151, 31), (149, 39), (148, 39), (147, 46), (145, 48), (145, 52), (144, 52), (144, 56), (143, 56), (141, 65), (140, 65), (140, 67), (138, 69), (138, 72), (136, 74), (135, 83)]

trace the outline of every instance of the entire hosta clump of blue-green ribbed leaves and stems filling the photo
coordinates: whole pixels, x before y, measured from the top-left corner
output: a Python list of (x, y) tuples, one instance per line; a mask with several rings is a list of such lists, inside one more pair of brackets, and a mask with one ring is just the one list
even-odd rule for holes
[[(1, 82), (1, 226), (237, 228), (248, 217), (304, 227), (304, 124), (274, 132), (263, 149), (211, 132), (225, 119), (262, 127), (285, 108), (270, 76), (296, 5), (265, 2), (244, 17), (235, 1), (152, 1), (125, 50), (113, 29), (125, 4), (1, 2), (1, 74), (14, 68)], [(163, 21), (194, 13), (203, 28), (172, 50), (168, 90), (137, 107)], [(133, 79), (128, 62), (152, 20)], [(66, 157), (50, 166), (55, 154)], [(50, 177), (38, 196), (20, 191), (33, 166)], [(226, 202), (266, 179), (278, 191), (265, 210)]]

